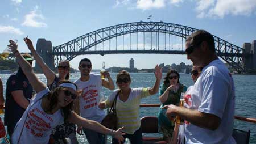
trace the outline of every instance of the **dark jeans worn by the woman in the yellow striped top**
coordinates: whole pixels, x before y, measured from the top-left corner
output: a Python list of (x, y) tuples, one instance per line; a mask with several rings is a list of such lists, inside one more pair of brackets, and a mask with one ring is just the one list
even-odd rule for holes
[[(134, 134), (125, 134), (123, 138), (128, 138), (131, 144), (142, 144), (142, 131), (141, 128), (136, 130)], [(118, 144), (118, 140), (112, 137), (112, 144)], [(122, 142), (123, 144), (123, 142)]]

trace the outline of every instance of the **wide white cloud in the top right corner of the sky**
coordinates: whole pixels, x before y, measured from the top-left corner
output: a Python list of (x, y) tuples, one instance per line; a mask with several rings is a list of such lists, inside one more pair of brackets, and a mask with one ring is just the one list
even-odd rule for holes
[(251, 15), (255, 14), (255, 0), (199, 0), (197, 1), (197, 17), (218, 17), (225, 15)]

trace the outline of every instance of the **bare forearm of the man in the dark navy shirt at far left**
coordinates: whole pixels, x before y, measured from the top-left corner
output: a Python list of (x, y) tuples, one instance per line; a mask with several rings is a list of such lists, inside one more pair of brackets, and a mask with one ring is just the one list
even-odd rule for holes
[(26, 109), (28, 104), (28, 100), (23, 95), (22, 90), (12, 91), (11, 95), (13, 96), (14, 101), (22, 108)]

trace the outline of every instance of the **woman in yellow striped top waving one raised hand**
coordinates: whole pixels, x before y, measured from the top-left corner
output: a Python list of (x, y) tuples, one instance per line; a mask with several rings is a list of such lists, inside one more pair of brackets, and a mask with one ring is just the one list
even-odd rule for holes
[[(117, 128), (124, 126), (122, 132), (125, 132), (124, 138), (129, 138), (130, 142), (142, 143), (141, 120), (139, 118), (139, 104), (141, 99), (154, 95), (159, 90), (159, 84), (162, 78), (162, 69), (155, 66), (155, 84), (152, 88), (130, 88), (130, 74), (122, 70), (117, 74), (118, 90), (115, 90), (109, 98), (99, 104), (101, 109), (112, 106), (115, 95), (118, 94), (116, 103), (116, 112), (118, 118)], [(118, 143), (117, 139), (112, 138), (113, 144)]]

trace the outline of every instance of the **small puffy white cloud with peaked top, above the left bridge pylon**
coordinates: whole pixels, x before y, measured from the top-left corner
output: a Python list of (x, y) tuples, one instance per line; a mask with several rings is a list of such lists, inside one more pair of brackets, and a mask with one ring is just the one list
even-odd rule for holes
[(34, 10), (25, 15), (25, 20), (22, 25), (27, 27), (47, 27), (46, 23), (39, 22), (38, 19), (44, 20), (44, 16), (38, 13), (38, 6), (35, 6)]

